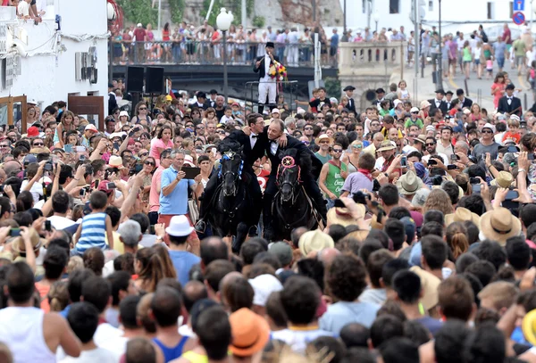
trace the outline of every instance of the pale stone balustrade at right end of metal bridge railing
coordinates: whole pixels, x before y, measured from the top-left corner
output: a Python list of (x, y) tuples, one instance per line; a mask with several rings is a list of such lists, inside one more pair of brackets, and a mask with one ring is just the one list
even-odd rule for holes
[(406, 42), (340, 43), (339, 72), (356, 68), (399, 67), (407, 56)]

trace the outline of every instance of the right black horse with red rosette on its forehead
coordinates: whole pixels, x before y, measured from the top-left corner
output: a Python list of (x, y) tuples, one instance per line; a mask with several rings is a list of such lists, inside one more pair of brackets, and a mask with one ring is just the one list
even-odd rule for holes
[(298, 155), (296, 149), (283, 152), (276, 177), (278, 192), (272, 201), (274, 241), (290, 240), (294, 228), (314, 229), (318, 226), (312, 201), (301, 184), (301, 177), (313, 177), (311, 168), (308, 154)]

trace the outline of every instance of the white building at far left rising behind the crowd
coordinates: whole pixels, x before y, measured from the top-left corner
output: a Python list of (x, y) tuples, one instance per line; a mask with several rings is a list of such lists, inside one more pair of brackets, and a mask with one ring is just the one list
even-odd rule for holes
[[(0, 7), (0, 97), (26, 95), (43, 111), (54, 101), (68, 102), (70, 95), (96, 95), (102, 96), (99, 106), (107, 112), (105, 0), (41, 3), (45, 14), (38, 25), (17, 19), (14, 7)], [(0, 98), (4, 109), (0, 124), (5, 124), (5, 105), (5, 99)], [(13, 107), (16, 121), (21, 105)]]

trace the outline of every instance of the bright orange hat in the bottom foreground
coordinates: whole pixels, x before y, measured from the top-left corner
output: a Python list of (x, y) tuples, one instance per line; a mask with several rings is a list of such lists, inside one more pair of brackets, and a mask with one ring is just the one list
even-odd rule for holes
[(270, 340), (270, 326), (264, 318), (247, 308), (238, 309), (229, 317), (232, 342), (229, 350), (239, 357), (249, 357), (264, 350)]

